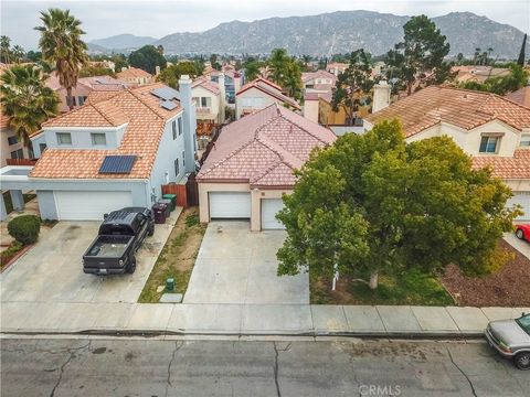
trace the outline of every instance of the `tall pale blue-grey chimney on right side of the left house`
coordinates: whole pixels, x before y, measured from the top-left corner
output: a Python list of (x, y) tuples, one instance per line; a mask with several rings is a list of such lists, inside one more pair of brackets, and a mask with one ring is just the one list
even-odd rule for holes
[(191, 78), (182, 75), (179, 79), (180, 104), (184, 109), (182, 127), (184, 129), (186, 172), (195, 171), (197, 118), (191, 96)]

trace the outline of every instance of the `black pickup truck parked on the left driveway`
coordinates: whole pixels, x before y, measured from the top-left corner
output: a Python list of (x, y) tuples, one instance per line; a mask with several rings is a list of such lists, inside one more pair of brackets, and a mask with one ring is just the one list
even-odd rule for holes
[(132, 273), (136, 251), (155, 233), (149, 208), (127, 207), (104, 215), (96, 239), (83, 255), (83, 271), (92, 275)]

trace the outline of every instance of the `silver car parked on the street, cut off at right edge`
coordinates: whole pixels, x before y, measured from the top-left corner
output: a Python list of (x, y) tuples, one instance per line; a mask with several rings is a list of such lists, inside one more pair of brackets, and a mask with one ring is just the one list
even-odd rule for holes
[(491, 321), (486, 337), (497, 352), (513, 360), (519, 369), (530, 369), (530, 313), (515, 320)]

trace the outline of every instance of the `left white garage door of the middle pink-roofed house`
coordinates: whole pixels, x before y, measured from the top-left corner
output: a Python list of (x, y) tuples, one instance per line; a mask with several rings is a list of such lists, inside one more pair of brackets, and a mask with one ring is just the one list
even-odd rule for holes
[(210, 192), (211, 218), (251, 218), (251, 193)]

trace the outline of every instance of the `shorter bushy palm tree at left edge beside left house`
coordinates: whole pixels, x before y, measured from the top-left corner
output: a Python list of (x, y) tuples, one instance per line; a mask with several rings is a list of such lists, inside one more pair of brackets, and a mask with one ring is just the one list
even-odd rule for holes
[(46, 78), (35, 65), (14, 65), (1, 76), (2, 112), (10, 117), (10, 126), (26, 148), (30, 135), (57, 115), (59, 98), (44, 85)]

